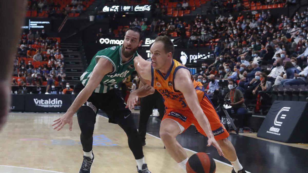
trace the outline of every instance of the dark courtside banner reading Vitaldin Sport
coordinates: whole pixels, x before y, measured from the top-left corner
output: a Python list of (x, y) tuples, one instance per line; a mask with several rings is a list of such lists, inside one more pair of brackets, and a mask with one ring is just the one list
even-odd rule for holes
[(69, 94), (28, 94), (25, 97), (26, 112), (66, 112), (71, 106)]

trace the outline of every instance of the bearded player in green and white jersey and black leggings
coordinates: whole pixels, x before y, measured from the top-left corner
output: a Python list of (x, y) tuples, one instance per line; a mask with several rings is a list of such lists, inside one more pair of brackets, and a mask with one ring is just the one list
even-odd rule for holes
[(137, 171), (150, 173), (144, 163), (141, 141), (131, 115), (125, 108), (124, 100), (114, 85), (128, 77), (134, 70), (133, 59), (138, 56), (137, 48), (142, 43), (141, 30), (131, 27), (127, 30), (122, 46), (108, 47), (98, 51), (92, 58), (90, 65), (81, 75), (80, 82), (74, 88), (79, 93), (67, 112), (56, 119), (52, 126), (58, 131), (65, 124), (72, 130), (72, 117), (77, 111), (77, 118), (81, 130), (80, 141), (83, 147), (83, 163), (79, 173), (90, 173), (94, 160), (92, 153), (93, 131), (95, 117), (99, 109), (106, 112), (109, 123), (118, 124), (128, 137), (128, 146), (135, 156)]

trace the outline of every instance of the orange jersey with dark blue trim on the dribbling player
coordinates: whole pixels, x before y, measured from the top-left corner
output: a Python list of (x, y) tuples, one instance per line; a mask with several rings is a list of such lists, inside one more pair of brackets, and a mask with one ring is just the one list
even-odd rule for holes
[[(185, 110), (189, 109), (189, 107), (186, 103), (184, 95), (182, 92), (177, 91), (174, 86), (175, 74), (176, 71), (180, 68), (185, 68), (188, 70), (187, 67), (174, 59), (172, 60), (172, 65), (166, 75), (163, 75), (159, 70), (155, 70), (151, 66), (151, 86), (153, 86), (164, 97), (164, 104), (167, 108)], [(204, 96), (204, 89), (202, 83), (196, 82), (193, 76), (191, 76), (191, 79), (196, 89), (198, 100), (200, 103)]]

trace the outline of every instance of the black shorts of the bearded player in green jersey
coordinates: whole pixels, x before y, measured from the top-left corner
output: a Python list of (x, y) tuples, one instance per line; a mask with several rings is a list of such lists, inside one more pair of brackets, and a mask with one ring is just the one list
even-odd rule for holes
[[(74, 87), (74, 93), (78, 95), (83, 88), (83, 84), (79, 82)], [(92, 93), (84, 105), (91, 107), (95, 114), (97, 114), (99, 109), (106, 112), (109, 123), (115, 123), (113, 119), (118, 116), (125, 117), (132, 113), (128, 108), (125, 108), (125, 101), (122, 98), (121, 91), (117, 88), (107, 93)], [(79, 108), (77, 114), (79, 111), (82, 111), (82, 109)]]

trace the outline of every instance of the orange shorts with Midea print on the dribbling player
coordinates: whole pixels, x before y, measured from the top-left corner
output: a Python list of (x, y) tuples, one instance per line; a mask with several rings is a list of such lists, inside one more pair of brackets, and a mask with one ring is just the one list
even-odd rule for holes
[[(226, 131), (224, 125), (221, 123), (219, 116), (214, 109), (211, 101), (207, 98), (206, 94), (201, 100), (200, 106), (205, 114), (205, 116), (208, 118), (211, 130), (213, 132), (214, 138), (216, 140), (225, 139), (229, 136), (229, 133)], [(181, 126), (184, 127), (184, 131), (191, 125), (194, 124), (197, 128), (197, 130), (202, 134), (205, 135), (205, 132), (199, 125), (197, 119), (193, 115), (193, 112), (190, 109), (186, 110), (179, 110), (179, 109), (172, 109), (172, 108), (166, 108), (166, 112), (164, 115), (164, 119), (173, 119), (176, 122), (178, 122)], [(184, 132), (183, 131), (183, 132)]]

